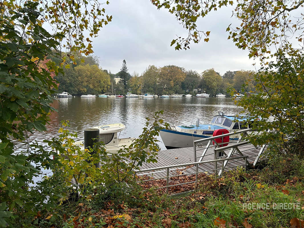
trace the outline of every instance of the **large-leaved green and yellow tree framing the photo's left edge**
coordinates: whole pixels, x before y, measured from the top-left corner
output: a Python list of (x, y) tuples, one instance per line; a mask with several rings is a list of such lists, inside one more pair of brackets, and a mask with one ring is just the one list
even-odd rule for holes
[[(5, 0), (0, 12), (0, 226), (17, 227), (16, 221), (33, 226), (24, 225), (24, 215), (33, 217), (55, 207), (62, 191), (45, 179), (32, 185), (33, 178), (54, 168), (58, 159), (52, 159), (57, 156), (53, 150), (27, 141), (34, 130), (46, 130), (50, 112), (55, 111), (51, 94), (57, 85), (52, 73), (63, 71), (53, 61), (61, 59), (54, 50), (92, 53), (90, 38), (112, 16), (105, 15), (98, 2), (81, 0)], [(46, 24), (53, 29), (45, 29)], [(39, 67), (45, 58), (51, 60)], [(20, 141), (26, 146), (16, 151)]]

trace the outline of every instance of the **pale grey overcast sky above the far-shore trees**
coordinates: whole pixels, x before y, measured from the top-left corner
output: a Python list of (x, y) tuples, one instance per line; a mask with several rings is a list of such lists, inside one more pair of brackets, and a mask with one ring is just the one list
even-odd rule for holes
[(254, 60), (247, 50), (238, 49), (227, 40), (226, 28), (239, 21), (231, 18), (232, 8), (224, 7), (199, 20), (198, 29), (211, 31), (209, 42), (192, 43), (190, 50), (176, 51), (170, 47), (176, 35), (185, 37), (187, 31), (167, 9), (157, 10), (149, 0), (116, 0), (104, 6), (113, 19), (93, 39), (94, 54), (100, 66), (112, 73), (120, 71), (126, 60), (129, 73), (142, 74), (149, 65), (177, 65), (202, 71), (214, 68), (223, 75), (226, 71), (254, 70)]

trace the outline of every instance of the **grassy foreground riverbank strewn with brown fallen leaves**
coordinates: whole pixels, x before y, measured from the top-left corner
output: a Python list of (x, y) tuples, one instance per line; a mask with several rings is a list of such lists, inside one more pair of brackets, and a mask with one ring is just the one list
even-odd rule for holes
[(219, 179), (203, 176), (196, 193), (178, 197), (159, 195), (151, 186), (99, 186), (78, 202), (40, 211), (31, 223), (75, 228), (303, 227), (304, 160), (280, 156), (258, 168), (230, 171)]

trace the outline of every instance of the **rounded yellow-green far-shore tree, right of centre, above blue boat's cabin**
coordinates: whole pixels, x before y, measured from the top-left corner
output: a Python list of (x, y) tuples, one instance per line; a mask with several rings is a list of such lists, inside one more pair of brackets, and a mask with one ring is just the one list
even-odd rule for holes
[(211, 96), (215, 96), (221, 90), (220, 85), (222, 81), (222, 77), (219, 76), (213, 68), (202, 72), (202, 89)]

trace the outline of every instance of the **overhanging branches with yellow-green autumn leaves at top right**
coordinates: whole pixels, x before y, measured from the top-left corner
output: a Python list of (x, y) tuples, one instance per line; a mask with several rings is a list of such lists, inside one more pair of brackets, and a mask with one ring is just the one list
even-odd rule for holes
[[(205, 18), (211, 11), (232, 5), (233, 16), (240, 20), (240, 25), (227, 25), (228, 39), (233, 40), (240, 49), (248, 49), (249, 57), (269, 57), (271, 47), (290, 48), (297, 45), (291, 42), (291, 35), (303, 44), (303, 0), (301, 1), (166, 1), (152, 0), (157, 9), (166, 8), (188, 31), (188, 36), (172, 40), (176, 50), (190, 48), (191, 41), (198, 43), (202, 38), (209, 41), (210, 31), (198, 28), (197, 21)], [(300, 47), (301, 48), (301, 47)]]

